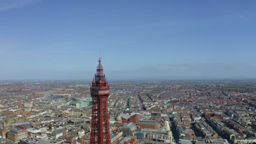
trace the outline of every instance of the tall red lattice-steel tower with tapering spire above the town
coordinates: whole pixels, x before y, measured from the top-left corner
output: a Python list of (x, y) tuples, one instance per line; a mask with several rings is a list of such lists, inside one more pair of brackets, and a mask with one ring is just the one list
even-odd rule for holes
[(92, 118), (90, 144), (110, 144), (108, 123), (108, 81), (103, 73), (101, 58), (98, 60), (97, 72), (91, 85)]

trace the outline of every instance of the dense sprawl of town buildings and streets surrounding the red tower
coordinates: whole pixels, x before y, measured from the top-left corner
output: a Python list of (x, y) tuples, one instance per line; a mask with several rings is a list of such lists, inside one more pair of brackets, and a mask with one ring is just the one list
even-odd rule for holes
[[(0, 81), (0, 143), (90, 143), (91, 82)], [(254, 81), (109, 82), (111, 143), (255, 143)]]

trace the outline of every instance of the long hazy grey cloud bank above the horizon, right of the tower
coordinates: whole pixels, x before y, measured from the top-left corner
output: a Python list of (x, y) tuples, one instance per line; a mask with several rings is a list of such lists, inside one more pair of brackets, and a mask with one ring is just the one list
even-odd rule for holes
[(256, 67), (248, 63), (185, 63), (148, 65), (135, 70), (111, 71), (111, 77), (131, 79), (255, 79)]

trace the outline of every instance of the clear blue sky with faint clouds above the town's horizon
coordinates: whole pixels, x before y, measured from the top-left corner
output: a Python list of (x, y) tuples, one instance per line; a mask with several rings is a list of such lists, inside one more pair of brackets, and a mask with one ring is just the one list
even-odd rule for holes
[(0, 0), (0, 79), (256, 79), (256, 1)]

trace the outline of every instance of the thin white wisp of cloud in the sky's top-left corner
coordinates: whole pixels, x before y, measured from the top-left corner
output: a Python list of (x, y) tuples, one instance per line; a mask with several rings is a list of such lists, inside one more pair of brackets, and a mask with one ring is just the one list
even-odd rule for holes
[(25, 7), (42, 0), (1, 0), (0, 11)]

